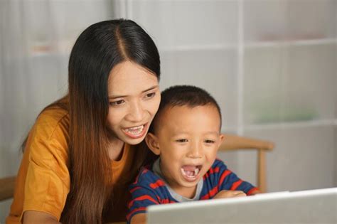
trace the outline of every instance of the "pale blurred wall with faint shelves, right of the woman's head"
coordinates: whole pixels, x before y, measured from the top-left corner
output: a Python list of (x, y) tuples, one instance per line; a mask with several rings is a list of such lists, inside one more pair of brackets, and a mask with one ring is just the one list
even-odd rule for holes
[[(336, 1), (129, 1), (156, 40), (161, 87), (204, 87), (223, 132), (271, 140), (268, 191), (336, 185)], [(219, 154), (255, 183), (254, 153)]]

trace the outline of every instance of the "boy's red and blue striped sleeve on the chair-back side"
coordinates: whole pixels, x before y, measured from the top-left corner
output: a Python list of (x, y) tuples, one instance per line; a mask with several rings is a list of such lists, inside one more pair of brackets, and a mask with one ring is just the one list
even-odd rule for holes
[(247, 181), (242, 181), (236, 174), (230, 171), (223, 161), (218, 161), (217, 166), (219, 167), (218, 176), (218, 189), (219, 191), (230, 190), (230, 191), (243, 191), (247, 195), (257, 191), (255, 186)]

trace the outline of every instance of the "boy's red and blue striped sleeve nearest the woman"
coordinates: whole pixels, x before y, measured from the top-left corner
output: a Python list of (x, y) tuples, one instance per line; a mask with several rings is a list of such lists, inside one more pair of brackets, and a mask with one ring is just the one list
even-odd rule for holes
[(128, 203), (129, 211), (127, 213), (127, 223), (130, 223), (132, 217), (139, 213), (146, 213), (146, 207), (159, 204), (159, 196), (155, 191), (158, 181), (153, 181), (151, 176), (146, 175), (146, 169), (143, 169), (136, 181), (129, 186), (131, 199)]

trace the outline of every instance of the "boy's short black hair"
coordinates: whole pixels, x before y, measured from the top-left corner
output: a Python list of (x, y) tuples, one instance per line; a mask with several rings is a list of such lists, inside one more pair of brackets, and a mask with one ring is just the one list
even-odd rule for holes
[(161, 92), (161, 102), (159, 110), (154, 117), (149, 132), (154, 133), (156, 123), (161, 113), (167, 107), (188, 106), (197, 107), (204, 105), (213, 105), (219, 112), (221, 127), (221, 110), (218, 102), (205, 90), (193, 85), (174, 85)]

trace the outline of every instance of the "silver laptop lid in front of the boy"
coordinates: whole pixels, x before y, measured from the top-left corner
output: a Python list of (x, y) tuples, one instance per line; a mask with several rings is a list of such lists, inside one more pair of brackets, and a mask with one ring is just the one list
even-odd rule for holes
[(337, 223), (337, 188), (149, 206), (149, 224)]

